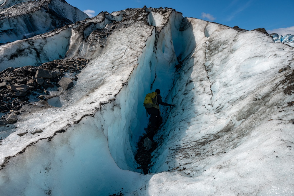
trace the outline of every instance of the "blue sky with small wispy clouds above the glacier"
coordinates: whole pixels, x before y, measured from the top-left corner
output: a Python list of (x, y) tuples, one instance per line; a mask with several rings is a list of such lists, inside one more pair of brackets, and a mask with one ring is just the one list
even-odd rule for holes
[[(204, 19), (229, 27), (253, 30), (265, 28), (268, 33), (294, 34), (294, 0), (66, 0), (72, 6), (96, 16), (101, 11), (120, 11), (127, 8), (170, 7), (184, 17)], [(86, 11), (88, 10), (88, 11)]]

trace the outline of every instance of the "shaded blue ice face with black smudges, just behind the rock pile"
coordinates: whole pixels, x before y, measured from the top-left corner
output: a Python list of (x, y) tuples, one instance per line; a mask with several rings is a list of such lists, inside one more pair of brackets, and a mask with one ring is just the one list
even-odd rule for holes
[(34, 37), (0, 46), (0, 70), (7, 67), (41, 65), (44, 62), (65, 56), (71, 31), (69, 28), (57, 30), (48, 37)]

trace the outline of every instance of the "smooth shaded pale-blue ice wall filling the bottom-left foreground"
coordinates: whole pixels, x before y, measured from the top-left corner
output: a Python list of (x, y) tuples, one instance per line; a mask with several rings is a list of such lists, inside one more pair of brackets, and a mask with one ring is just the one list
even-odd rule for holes
[(111, 195), (142, 189), (150, 176), (117, 166), (96, 118), (84, 118), (11, 160), (1, 170), (1, 195)]

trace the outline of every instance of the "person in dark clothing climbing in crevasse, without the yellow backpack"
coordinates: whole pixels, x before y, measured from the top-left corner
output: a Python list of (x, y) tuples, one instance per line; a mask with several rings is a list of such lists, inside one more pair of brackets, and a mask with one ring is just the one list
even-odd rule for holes
[[(147, 134), (149, 139), (153, 142), (153, 136), (155, 134), (155, 129), (157, 129), (162, 123), (162, 117), (160, 116), (159, 104), (162, 106), (175, 106), (174, 104), (168, 104), (162, 101), (162, 97), (160, 95), (160, 90), (156, 89), (156, 106), (151, 108), (146, 108), (147, 113), (150, 115), (150, 131)], [(155, 128), (156, 127), (156, 128)]]

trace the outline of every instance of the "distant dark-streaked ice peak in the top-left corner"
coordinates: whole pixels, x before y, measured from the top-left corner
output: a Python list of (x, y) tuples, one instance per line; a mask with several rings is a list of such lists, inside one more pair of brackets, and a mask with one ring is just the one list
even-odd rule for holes
[(86, 18), (87, 14), (62, 0), (6, 0), (0, 5), (0, 44), (33, 37)]

